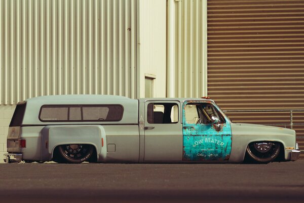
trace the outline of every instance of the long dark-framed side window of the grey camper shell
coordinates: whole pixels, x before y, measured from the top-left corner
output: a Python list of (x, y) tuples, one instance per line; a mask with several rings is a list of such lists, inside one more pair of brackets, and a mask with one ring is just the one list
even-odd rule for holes
[(121, 105), (44, 105), (40, 109), (42, 122), (120, 121)]

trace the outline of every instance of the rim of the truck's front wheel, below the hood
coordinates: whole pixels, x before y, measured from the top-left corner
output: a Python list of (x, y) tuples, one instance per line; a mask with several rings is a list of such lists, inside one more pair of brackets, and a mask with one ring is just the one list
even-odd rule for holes
[(274, 157), (279, 144), (275, 142), (254, 142), (249, 144), (250, 152), (261, 159), (268, 159)]

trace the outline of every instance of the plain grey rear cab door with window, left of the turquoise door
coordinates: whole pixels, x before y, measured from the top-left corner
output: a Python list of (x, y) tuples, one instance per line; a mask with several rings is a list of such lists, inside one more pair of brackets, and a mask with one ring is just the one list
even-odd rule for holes
[(144, 104), (144, 162), (182, 160), (182, 123), (179, 101)]

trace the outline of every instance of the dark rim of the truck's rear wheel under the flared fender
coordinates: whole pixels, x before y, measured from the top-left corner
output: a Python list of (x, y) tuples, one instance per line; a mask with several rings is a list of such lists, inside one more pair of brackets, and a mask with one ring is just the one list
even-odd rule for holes
[(89, 145), (71, 144), (63, 145), (61, 148), (65, 156), (70, 159), (79, 160), (87, 156), (90, 147)]

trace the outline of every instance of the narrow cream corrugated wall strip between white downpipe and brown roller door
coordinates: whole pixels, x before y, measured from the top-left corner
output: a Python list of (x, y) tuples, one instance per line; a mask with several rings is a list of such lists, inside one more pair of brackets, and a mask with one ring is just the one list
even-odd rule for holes
[(175, 97), (207, 95), (207, 1), (175, 1)]

